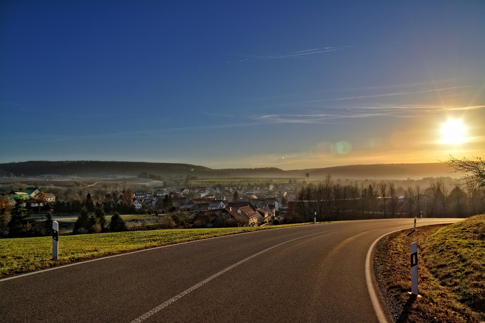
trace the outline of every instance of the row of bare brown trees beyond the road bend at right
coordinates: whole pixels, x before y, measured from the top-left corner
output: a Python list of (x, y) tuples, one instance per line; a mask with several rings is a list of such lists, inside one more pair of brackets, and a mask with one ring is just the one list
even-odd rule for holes
[(419, 216), (463, 217), (485, 212), (483, 192), (476, 186), (449, 190), (442, 180), (433, 179), (425, 190), (408, 187), (398, 199), (393, 183), (364, 186), (357, 182), (341, 185), (328, 175), (317, 185), (309, 184), (298, 192), (295, 213), (287, 221), (309, 221), (315, 212), (319, 220), (393, 218)]

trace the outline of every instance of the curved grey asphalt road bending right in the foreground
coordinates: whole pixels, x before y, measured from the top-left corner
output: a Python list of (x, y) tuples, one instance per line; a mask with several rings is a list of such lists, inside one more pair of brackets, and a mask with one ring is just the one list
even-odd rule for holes
[(376, 323), (365, 278), (368, 249), (381, 235), (412, 225), (413, 219), (388, 219), (257, 231), (4, 280), (0, 322), (130, 323), (218, 273), (139, 322)]

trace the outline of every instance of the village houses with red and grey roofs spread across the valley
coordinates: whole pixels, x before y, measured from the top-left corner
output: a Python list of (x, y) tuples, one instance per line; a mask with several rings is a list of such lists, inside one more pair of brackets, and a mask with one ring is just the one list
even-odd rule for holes
[[(203, 186), (132, 192), (129, 188), (123, 193), (113, 202), (106, 203), (106, 199), (96, 198), (93, 202), (104, 208), (107, 213), (122, 207), (133, 211), (130, 213), (140, 215), (183, 212), (191, 215), (191, 226), (198, 228), (255, 227), (279, 223), (288, 211), (288, 201), (296, 198), (296, 183), (252, 187), (250, 190), (245, 186)], [(56, 197), (54, 193), (42, 192), (38, 187), (12, 190), (2, 195), (12, 205), (15, 204), (15, 200), (25, 200), (24, 207), (39, 215), (46, 211), (62, 213), (61, 208), (70, 204), (62, 195)], [(88, 196), (91, 199), (91, 194)]]

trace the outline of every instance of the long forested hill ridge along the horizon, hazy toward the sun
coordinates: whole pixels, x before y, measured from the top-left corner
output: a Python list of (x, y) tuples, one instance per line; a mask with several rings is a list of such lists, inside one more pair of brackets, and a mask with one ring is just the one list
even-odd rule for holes
[(367, 179), (418, 179), (423, 177), (450, 176), (451, 169), (444, 163), (423, 164), (371, 164), (347, 165), (318, 169), (283, 170), (275, 167), (210, 169), (204, 166), (178, 163), (146, 163), (120, 161), (28, 161), (0, 164), (0, 174), (5, 172), (20, 176), (39, 176), (57, 174), (61, 176), (76, 175), (81, 177), (111, 177), (116, 175), (137, 176), (142, 172), (159, 176), (197, 176), (199, 178), (224, 177), (280, 177), (304, 178), (306, 173), (311, 178), (323, 178), (327, 174), (333, 178), (367, 178)]

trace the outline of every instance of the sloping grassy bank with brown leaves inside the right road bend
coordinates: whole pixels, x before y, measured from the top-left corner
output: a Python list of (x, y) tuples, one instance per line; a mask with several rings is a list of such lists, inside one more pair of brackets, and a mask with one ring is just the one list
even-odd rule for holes
[[(404, 305), (397, 322), (464, 323), (485, 321), (485, 215), (451, 225), (425, 226), (384, 238), (383, 275)], [(409, 245), (418, 242), (419, 293), (411, 290)], [(374, 257), (375, 258), (375, 257)]]

